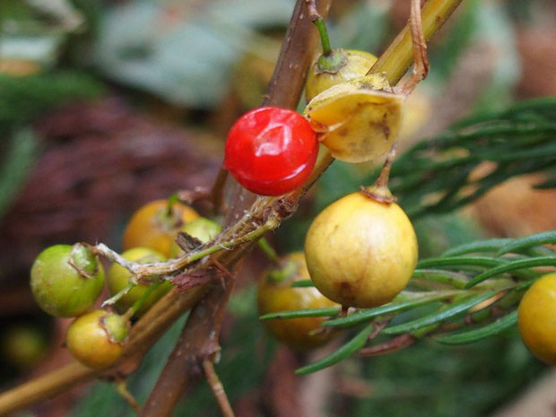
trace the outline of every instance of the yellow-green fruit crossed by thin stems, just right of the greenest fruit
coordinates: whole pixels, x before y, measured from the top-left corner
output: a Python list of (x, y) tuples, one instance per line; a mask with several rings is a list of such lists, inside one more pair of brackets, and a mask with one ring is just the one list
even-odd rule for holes
[[(128, 261), (138, 262), (139, 264), (152, 264), (155, 262), (164, 262), (166, 258), (154, 249), (151, 248), (133, 248), (126, 250), (123, 254)], [(116, 263), (112, 264), (108, 273), (108, 286), (110, 295), (117, 294), (117, 292), (122, 291), (126, 285), (129, 283), (131, 273), (127, 271), (121, 265)], [(149, 277), (145, 278), (147, 281)], [(135, 301), (139, 300), (145, 291), (149, 289), (149, 283), (139, 282), (128, 291), (121, 299), (116, 301), (115, 307), (118, 312), (125, 313), (128, 308), (135, 304)], [(143, 301), (143, 305), (139, 308), (135, 316), (141, 317), (143, 314), (152, 307), (152, 305), (160, 300), (164, 294), (172, 289), (173, 285), (169, 281), (162, 282), (162, 284), (149, 295), (146, 300)]]

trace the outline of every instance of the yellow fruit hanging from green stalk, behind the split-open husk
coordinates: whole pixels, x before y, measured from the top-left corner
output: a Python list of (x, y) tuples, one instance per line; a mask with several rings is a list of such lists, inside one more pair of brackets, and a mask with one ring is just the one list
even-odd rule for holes
[(312, 100), (317, 94), (329, 89), (333, 85), (362, 77), (369, 72), (372, 65), (377, 62), (377, 56), (369, 52), (356, 49), (336, 49), (335, 53), (345, 57), (343, 65), (335, 72), (323, 71), (318, 67), (318, 56), (307, 75), (305, 83), (305, 99)]

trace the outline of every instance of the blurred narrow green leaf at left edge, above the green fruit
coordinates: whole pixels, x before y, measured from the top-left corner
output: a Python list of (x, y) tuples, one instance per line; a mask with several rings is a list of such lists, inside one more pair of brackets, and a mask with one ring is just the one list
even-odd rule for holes
[(17, 132), (11, 142), (0, 167), (0, 218), (25, 183), (37, 154), (37, 139), (30, 129)]

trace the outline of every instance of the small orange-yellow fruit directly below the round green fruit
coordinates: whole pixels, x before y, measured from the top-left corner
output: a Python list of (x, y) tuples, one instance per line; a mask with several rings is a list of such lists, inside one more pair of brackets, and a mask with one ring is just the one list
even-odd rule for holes
[(125, 317), (98, 309), (77, 317), (67, 328), (65, 340), (77, 361), (103, 369), (121, 356), (128, 331)]

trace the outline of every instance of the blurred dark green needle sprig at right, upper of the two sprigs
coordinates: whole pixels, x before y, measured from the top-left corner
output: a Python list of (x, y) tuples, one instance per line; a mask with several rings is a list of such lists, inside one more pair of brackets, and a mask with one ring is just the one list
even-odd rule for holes
[[(543, 172), (551, 178), (556, 165), (554, 120), (554, 98), (519, 103), (499, 113), (482, 112), (404, 152), (392, 166), (390, 188), (416, 219), (451, 213), (517, 175)], [(492, 170), (479, 178), (470, 175), (484, 161), (492, 162)]]

